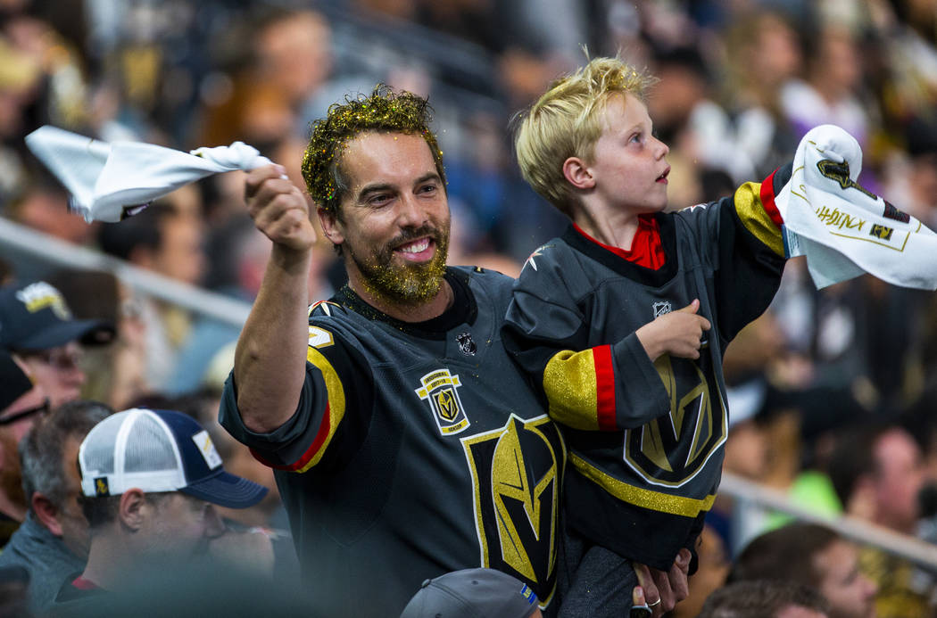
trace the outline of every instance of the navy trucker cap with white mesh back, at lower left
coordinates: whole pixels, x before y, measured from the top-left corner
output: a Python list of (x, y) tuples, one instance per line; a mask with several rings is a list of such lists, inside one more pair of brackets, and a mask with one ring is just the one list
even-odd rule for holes
[(247, 508), (267, 488), (225, 472), (212, 438), (172, 410), (132, 408), (95, 425), (78, 450), (82, 493), (182, 492), (222, 507)]

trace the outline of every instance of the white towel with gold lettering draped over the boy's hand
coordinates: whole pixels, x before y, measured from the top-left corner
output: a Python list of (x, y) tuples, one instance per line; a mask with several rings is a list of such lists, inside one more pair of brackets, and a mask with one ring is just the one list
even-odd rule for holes
[(775, 203), (788, 257), (806, 256), (817, 288), (870, 272), (901, 287), (937, 289), (937, 234), (855, 183), (858, 142), (839, 126), (811, 129)]

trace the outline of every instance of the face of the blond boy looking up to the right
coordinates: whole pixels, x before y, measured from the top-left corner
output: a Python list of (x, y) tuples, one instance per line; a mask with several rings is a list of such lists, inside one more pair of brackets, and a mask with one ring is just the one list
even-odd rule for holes
[(602, 110), (602, 135), (587, 165), (594, 191), (606, 206), (635, 214), (667, 206), (665, 156), (670, 149), (651, 134), (647, 107), (632, 95), (609, 97)]

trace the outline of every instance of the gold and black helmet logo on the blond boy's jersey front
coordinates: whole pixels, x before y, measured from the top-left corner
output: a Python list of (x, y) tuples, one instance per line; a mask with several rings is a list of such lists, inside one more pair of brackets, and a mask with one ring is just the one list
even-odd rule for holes
[(706, 353), (698, 361), (663, 355), (654, 362), (670, 414), (626, 431), (624, 450), (625, 462), (648, 483), (683, 485), (725, 442), (728, 418), (711, 365)]

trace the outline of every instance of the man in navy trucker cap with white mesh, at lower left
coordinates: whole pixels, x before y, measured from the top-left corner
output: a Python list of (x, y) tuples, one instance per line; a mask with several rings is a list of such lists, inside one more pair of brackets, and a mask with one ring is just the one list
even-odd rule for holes
[(266, 493), (225, 472), (207, 432), (180, 412), (113, 414), (85, 436), (78, 460), (91, 543), (60, 603), (119, 591), (141, 569), (206, 556), (209, 542), (226, 534), (213, 505), (245, 508)]

